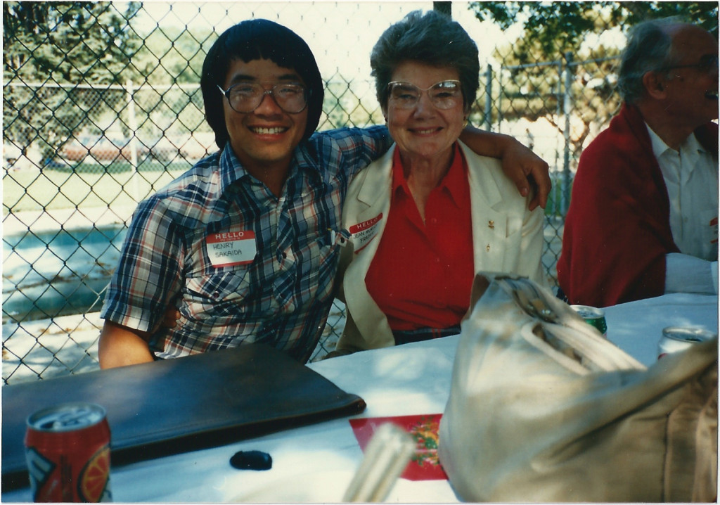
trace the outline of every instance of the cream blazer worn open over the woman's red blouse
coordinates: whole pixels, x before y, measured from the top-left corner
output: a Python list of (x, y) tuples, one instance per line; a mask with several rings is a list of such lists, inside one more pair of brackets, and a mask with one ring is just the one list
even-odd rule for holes
[[(458, 141), (459, 142), (459, 141)], [(460, 142), (467, 159), (475, 272), (506, 272), (546, 285), (541, 261), (544, 213), (503, 174), (500, 161), (478, 156)], [(338, 298), (347, 320), (336, 350), (356, 352), (395, 345), (390, 325), (365, 285), (390, 211), (392, 156), (397, 146), (355, 176), (343, 207), (343, 230), (354, 232), (341, 251)], [(470, 300), (468, 298), (468, 305)]]

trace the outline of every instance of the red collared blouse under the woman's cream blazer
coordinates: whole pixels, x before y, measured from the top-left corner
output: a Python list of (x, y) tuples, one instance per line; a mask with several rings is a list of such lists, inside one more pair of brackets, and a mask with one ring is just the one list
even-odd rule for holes
[(387, 225), (365, 277), (369, 294), (393, 330), (459, 324), (474, 265), (467, 162), (457, 143), (448, 173), (428, 198), (425, 223), (397, 149), (390, 198)]

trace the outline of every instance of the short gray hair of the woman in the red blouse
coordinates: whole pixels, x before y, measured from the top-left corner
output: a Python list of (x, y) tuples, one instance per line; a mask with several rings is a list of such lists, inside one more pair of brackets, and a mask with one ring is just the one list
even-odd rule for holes
[(370, 67), (380, 105), (387, 107), (387, 84), (403, 61), (456, 68), (462, 87), (464, 110), (469, 110), (480, 87), (477, 45), (458, 22), (445, 14), (410, 12), (384, 31), (372, 48)]

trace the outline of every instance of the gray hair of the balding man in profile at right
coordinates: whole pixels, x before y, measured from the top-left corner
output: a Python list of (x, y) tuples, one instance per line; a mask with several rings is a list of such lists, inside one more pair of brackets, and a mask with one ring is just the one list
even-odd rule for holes
[(626, 102), (632, 104), (644, 96), (646, 73), (663, 71), (674, 63), (669, 28), (683, 23), (680, 17), (666, 17), (644, 21), (630, 30), (618, 72), (618, 91)]

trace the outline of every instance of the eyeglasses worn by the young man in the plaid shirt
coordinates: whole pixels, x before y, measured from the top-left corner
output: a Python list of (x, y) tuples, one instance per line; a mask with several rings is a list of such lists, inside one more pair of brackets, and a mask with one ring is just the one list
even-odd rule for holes
[(235, 112), (243, 114), (256, 110), (266, 94), (271, 94), (275, 103), (289, 114), (297, 114), (307, 107), (307, 89), (302, 84), (275, 84), (265, 89), (256, 82), (239, 82), (228, 89), (220, 86), (217, 89), (225, 95)]

